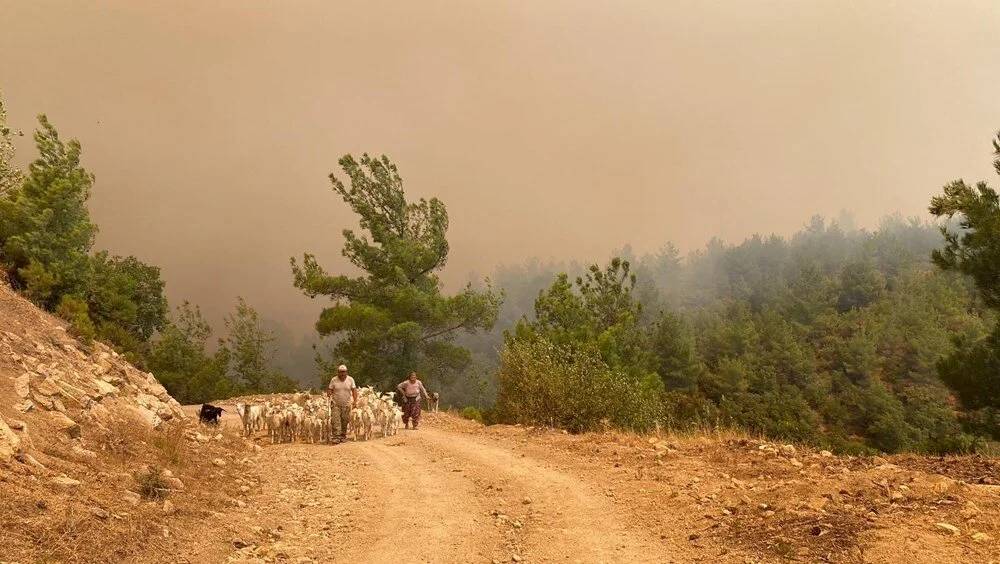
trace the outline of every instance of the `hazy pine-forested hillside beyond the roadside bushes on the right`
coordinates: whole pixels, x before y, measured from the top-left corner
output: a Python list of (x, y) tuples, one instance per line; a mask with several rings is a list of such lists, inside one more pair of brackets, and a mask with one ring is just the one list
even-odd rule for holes
[[(960, 410), (938, 363), (956, 342), (987, 335), (995, 316), (968, 278), (931, 262), (942, 243), (919, 219), (887, 217), (869, 231), (813, 217), (788, 238), (716, 239), (686, 256), (670, 244), (641, 256), (622, 249), (638, 323), (659, 349), (664, 417), (846, 452), (972, 449), (996, 433), (995, 415)], [(450, 383), (450, 402), (492, 406), (504, 332), (535, 318), (559, 273), (585, 270), (537, 259), (498, 268), (499, 321), (462, 338), (476, 368)]]

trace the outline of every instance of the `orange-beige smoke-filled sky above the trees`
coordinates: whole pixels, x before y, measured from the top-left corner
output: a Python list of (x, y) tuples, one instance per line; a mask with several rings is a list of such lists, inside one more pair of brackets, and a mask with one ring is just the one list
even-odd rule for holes
[(0, 30), (13, 124), (44, 112), (83, 144), (98, 246), (215, 320), (243, 295), (301, 333), (321, 303), (288, 258), (344, 268), (344, 153), (447, 204), (455, 287), (816, 213), (926, 217), (990, 176), (1000, 127), (993, 0), (0, 0)]

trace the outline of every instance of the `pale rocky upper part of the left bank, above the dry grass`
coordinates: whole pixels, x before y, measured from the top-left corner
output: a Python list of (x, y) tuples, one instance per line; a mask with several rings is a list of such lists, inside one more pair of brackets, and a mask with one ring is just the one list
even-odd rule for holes
[(153, 430), (184, 417), (152, 374), (103, 343), (79, 343), (64, 323), (0, 287), (0, 462), (61, 467), (97, 456), (91, 432)]

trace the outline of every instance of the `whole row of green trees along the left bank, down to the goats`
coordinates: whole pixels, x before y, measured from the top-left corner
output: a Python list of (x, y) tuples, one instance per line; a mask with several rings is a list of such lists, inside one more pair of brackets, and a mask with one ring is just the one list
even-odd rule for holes
[(211, 346), (197, 306), (185, 302), (171, 315), (158, 267), (94, 249), (94, 175), (80, 164), (79, 142), (63, 141), (44, 115), (38, 121), (37, 158), (22, 171), (12, 143), (21, 133), (0, 100), (0, 269), (14, 288), (69, 321), (82, 341), (106, 341), (155, 373), (181, 402), (294, 389), (274, 367), (272, 333), (242, 298)]

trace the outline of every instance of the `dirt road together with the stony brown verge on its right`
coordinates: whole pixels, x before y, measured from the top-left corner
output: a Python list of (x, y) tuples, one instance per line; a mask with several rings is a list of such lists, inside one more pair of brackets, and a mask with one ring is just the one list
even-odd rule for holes
[(171, 560), (912, 564), (995, 554), (995, 488), (743, 439), (671, 440), (445, 415), (338, 446), (258, 439), (231, 504), (184, 535)]

